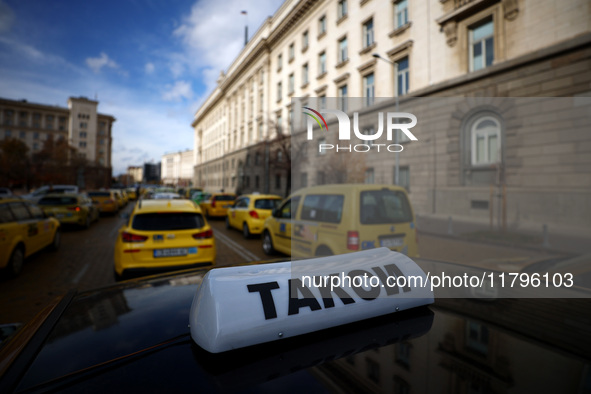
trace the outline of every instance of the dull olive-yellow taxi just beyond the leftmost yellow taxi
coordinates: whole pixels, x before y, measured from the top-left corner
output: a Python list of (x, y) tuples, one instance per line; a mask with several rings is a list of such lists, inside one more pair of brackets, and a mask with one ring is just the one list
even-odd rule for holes
[(48, 216), (62, 224), (77, 224), (89, 228), (99, 218), (99, 210), (88, 195), (82, 193), (47, 194), (39, 206)]

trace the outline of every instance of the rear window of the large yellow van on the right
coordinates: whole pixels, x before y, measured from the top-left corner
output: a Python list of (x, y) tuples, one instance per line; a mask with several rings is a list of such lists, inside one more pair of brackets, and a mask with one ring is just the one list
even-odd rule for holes
[(406, 194), (382, 189), (361, 192), (361, 224), (412, 222), (412, 211)]

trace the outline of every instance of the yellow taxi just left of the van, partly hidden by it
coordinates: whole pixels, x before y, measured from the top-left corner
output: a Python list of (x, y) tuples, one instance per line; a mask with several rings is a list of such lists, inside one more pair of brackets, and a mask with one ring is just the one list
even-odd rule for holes
[(234, 202), (226, 215), (226, 228), (242, 230), (244, 238), (261, 234), (265, 219), (280, 203), (282, 198), (274, 194), (245, 194)]

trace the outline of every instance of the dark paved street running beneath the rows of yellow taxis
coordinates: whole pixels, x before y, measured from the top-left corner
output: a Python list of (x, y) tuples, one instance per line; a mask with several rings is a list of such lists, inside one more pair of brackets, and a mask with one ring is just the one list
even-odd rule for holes
[[(125, 208), (131, 212), (133, 203)], [(56, 296), (71, 289), (86, 291), (115, 283), (113, 248), (123, 219), (101, 217), (90, 229), (65, 228), (58, 251), (41, 251), (25, 261), (17, 278), (0, 277), (0, 324), (25, 323)], [(227, 230), (222, 219), (210, 220), (217, 242), (217, 267), (267, 259), (260, 237), (244, 239), (237, 230)], [(490, 245), (421, 234), (421, 258), (495, 268), (526, 264), (556, 257), (543, 251)], [(273, 258), (281, 258), (281, 255)], [(286, 259), (287, 257), (284, 256)]]

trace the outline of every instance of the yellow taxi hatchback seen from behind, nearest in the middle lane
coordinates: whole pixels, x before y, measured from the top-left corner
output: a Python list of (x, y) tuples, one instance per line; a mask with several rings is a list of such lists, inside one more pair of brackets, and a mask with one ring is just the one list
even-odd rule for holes
[(213, 230), (189, 200), (142, 200), (115, 243), (115, 277), (215, 264)]

